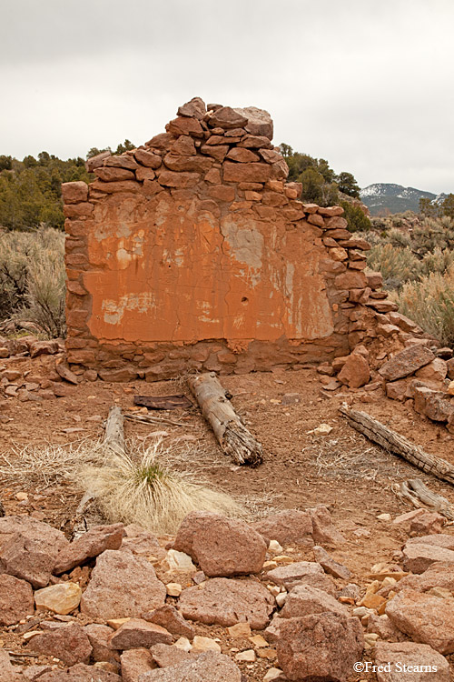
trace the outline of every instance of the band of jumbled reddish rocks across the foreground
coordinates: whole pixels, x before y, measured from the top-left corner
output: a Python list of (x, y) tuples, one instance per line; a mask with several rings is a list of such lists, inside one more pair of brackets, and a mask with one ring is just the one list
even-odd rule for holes
[[(410, 523), (408, 516), (396, 522)], [(70, 543), (32, 517), (0, 519), (0, 623), (22, 637), (31, 664), (13, 665), (0, 648), (2, 682), (246, 682), (260, 660), (268, 667), (254, 680), (344, 682), (363, 650), (377, 665), (435, 666), (430, 679), (448, 682), (453, 536), (411, 537), (403, 570), (372, 567), (364, 590), (323, 547), (310, 549), (321, 532), (333, 545), (326, 507), (288, 510), (254, 527), (192, 513), (165, 552), (139, 527), (93, 527)], [(161, 553), (143, 557), (145, 536)], [(313, 561), (277, 554), (281, 542), (301, 541)], [(168, 537), (163, 543), (170, 547)], [(183, 561), (182, 549), (198, 566)], [(178, 554), (186, 568), (175, 574)], [(170, 597), (178, 576), (183, 586)], [(226, 628), (225, 636), (207, 637), (210, 626)], [(395, 678), (386, 670), (380, 676)]]

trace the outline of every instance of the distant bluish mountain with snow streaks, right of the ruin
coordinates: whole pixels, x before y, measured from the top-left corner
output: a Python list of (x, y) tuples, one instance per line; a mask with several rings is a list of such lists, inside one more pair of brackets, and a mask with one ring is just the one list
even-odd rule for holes
[(419, 199), (428, 198), (439, 203), (446, 195), (434, 195), (415, 187), (403, 187), (393, 183), (376, 183), (360, 190), (360, 199), (368, 206), (371, 216), (403, 211), (419, 211)]

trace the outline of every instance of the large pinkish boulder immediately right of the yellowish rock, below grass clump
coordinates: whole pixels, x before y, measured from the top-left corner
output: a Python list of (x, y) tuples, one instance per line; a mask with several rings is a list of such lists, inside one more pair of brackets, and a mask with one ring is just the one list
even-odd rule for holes
[(165, 587), (146, 559), (108, 549), (96, 560), (81, 612), (104, 620), (140, 617), (162, 607), (165, 597)]

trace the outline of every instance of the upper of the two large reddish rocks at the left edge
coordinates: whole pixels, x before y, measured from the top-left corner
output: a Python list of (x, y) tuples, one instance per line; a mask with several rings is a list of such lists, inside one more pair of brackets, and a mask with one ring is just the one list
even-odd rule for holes
[(0, 573), (45, 587), (58, 552), (68, 544), (63, 533), (35, 518), (0, 518)]

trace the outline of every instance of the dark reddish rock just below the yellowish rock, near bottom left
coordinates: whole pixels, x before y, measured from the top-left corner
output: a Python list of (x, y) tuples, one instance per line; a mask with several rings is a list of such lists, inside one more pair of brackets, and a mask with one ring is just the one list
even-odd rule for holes
[(35, 635), (27, 650), (60, 658), (66, 666), (74, 666), (75, 663), (88, 663), (92, 645), (83, 627), (69, 623)]

